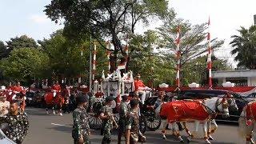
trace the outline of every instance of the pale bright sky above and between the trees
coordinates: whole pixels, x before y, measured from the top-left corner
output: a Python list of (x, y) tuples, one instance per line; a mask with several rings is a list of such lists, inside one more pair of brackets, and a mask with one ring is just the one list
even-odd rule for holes
[[(44, 6), (50, 0), (0, 0), (0, 41), (26, 34), (35, 40), (50, 38), (55, 30), (62, 28), (46, 17)], [(236, 62), (230, 55), (231, 35), (238, 34), (240, 26), (254, 24), (256, 14), (255, 0), (170, 0), (178, 18), (189, 20), (192, 24), (207, 22), (210, 16), (211, 37), (225, 40), (221, 50), (215, 52), (219, 57), (228, 58), (232, 66)], [(152, 24), (150, 28), (158, 26)]]

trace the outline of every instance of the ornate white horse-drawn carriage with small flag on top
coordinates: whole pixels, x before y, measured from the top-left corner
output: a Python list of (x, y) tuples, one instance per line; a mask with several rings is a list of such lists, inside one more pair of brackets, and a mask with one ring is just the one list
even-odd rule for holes
[[(129, 78), (127, 78), (127, 75), (129, 75)], [(108, 75), (107, 78), (102, 75), (102, 82), (100, 82), (100, 84), (98, 81), (94, 81), (94, 94), (90, 97), (89, 104), (90, 127), (94, 130), (101, 129), (102, 120), (99, 118), (99, 110), (102, 108), (105, 98), (108, 96), (114, 97), (112, 108), (115, 121), (118, 122), (119, 105), (122, 95), (129, 95), (130, 92), (133, 91), (134, 81), (131, 72), (124, 74), (123, 77), (121, 77), (121, 74), (118, 71)], [(140, 130), (142, 133), (145, 133), (146, 131), (146, 118), (144, 114), (140, 115)]]

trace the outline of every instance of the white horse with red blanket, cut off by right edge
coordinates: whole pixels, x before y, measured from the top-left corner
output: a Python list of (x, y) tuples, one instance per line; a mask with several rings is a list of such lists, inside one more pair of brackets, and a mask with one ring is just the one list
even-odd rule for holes
[[(240, 115), (240, 118), (238, 119), (239, 129), (238, 134), (246, 139), (246, 144), (254, 144), (254, 140), (252, 138), (252, 135), (254, 133), (254, 130), (256, 130), (255, 125), (255, 106), (256, 102), (250, 102), (245, 106), (242, 110), (242, 113)], [(246, 111), (250, 111), (250, 114), (246, 114)], [(249, 118), (249, 119), (247, 119)]]

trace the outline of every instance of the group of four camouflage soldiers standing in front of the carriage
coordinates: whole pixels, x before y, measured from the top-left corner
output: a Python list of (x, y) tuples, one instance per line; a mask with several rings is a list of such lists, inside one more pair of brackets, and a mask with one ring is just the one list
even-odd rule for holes
[[(74, 144), (90, 143), (90, 126), (86, 107), (88, 97), (84, 94), (76, 98), (78, 107), (73, 112), (74, 126), (72, 137)], [(115, 122), (112, 111), (112, 102), (114, 98), (106, 97), (105, 104), (100, 110), (102, 119), (102, 144), (111, 142), (111, 133), (114, 128), (118, 129), (118, 144), (121, 143), (122, 136), (126, 138), (126, 144), (145, 142), (146, 137), (139, 130), (139, 102), (138, 97), (130, 99), (128, 96), (122, 96), (122, 102), (119, 110), (119, 121)]]

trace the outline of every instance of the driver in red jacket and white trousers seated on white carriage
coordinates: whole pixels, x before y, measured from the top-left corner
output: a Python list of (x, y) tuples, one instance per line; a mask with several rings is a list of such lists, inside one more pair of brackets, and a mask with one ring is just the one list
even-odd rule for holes
[(134, 80), (134, 90), (138, 91), (138, 94), (142, 94), (142, 104), (144, 104), (146, 99), (146, 94), (149, 93), (149, 90), (151, 90), (149, 87), (145, 86), (142, 80), (140, 80), (141, 75), (137, 74), (135, 80)]

